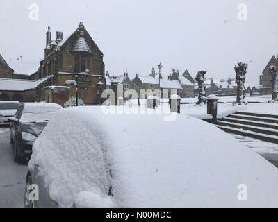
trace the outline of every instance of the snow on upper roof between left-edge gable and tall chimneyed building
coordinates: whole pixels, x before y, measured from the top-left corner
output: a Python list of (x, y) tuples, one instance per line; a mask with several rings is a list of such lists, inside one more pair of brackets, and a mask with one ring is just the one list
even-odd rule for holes
[(15, 74), (22, 74), (25, 76), (31, 76), (35, 72), (38, 71), (38, 68), (40, 67), (39, 62), (34, 61), (26, 61), (24, 59), (22, 60), (15, 60), (15, 59), (8, 59), (6, 60), (9, 67), (14, 70)]

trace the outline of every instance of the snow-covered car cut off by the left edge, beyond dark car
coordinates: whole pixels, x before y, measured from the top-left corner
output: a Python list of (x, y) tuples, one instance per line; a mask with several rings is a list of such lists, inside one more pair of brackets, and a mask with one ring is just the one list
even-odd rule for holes
[(0, 101), (0, 126), (10, 124), (8, 119), (15, 115), (20, 105), (18, 101)]

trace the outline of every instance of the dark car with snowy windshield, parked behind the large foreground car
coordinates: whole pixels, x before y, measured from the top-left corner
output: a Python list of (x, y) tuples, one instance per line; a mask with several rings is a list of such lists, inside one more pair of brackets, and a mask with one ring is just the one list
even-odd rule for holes
[(30, 159), (35, 139), (60, 108), (55, 103), (25, 103), (18, 108), (15, 117), (9, 118), (10, 143), (13, 144), (15, 162)]

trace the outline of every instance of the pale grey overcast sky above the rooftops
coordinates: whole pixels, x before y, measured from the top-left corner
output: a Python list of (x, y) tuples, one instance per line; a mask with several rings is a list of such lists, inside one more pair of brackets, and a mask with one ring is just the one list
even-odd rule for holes
[[(38, 21), (29, 6), (39, 6)], [(247, 20), (238, 19), (238, 5), (247, 6)], [(51, 26), (64, 37), (80, 21), (104, 53), (111, 74), (149, 75), (159, 62), (172, 68), (208, 71), (206, 77), (234, 77), (234, 65), (248, 62), (247, 82), (259, 75), (278, 53), (277, 0), (0, 0), (0, 53), (8, 58), (44, 56), (45, 33)], [(240, 14), (241, 15), (241, 14)]]

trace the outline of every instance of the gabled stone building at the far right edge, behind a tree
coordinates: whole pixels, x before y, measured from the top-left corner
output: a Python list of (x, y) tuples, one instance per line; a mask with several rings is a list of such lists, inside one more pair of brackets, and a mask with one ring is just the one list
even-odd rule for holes
[(271, 74), (269, 71), (269, 67), (271, 65), (278, 66), (278, 56), (272, 56), (268, 65), (266, 65), (265, 69), (263, 69), (263, 75), (260, 76), (260, 94), (267, 95), (272, 94), (272, 82), (271, 82)]

